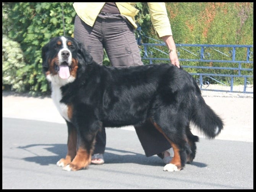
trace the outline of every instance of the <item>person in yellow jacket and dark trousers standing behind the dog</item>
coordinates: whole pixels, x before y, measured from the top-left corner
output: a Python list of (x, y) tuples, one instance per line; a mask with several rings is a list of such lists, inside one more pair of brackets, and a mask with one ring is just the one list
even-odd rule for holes
[[(83, 43), (94, 61), (103, 64), (104, 49), (113, 67), (143, 65), (139, 47), (134, 36), (137, 28), (134, 16), (139, 10), (136, 3), (127, 2), (75, 2), (74, 38)], [(147, 3), (151, 21), (157, 35), (169, 49), (170, 63), (180, 67), (172, 29), (164, 2)], [(157, 154), (165, 164), (172, 159), (171, 145), (149, 122), (134, 126), (147, 157)], [(96, 135), (91, 163), (104, 163), (106, 146), (105, 128)]]

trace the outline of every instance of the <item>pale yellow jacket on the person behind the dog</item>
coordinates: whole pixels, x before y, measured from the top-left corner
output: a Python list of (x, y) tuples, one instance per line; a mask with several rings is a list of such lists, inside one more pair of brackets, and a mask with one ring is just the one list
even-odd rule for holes
[[(96, 17), (98, 16), (100, 10), (104, 6), (105, 2), (96, 3), (73, 3), (73, 7), (76, 14), (91, 27), (94, 25)], [(117, 3), (117, 8), (120, 14), (125, 16), (128, 21), (133, 25), (134, 29), (137, 28), (134, 16), (139, 13), (139, 10), (135, 8), (136, 3), (121, 2)], [(167, 16), (167, 10), (164, 2), (160, 3), (147, 3), (149, 6), (149, 14), (151, 17), (151, 22), (153, 24), (154, 30), (159, 35), (159, 37), (165, 35), (172, 35), (172, 29), (170, 25), (169, 18)]]

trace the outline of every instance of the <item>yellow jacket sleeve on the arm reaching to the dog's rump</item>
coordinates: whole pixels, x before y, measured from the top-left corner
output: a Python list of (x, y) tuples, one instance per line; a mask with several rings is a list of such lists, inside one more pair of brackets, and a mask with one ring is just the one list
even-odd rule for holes
[(159, 35), (159, 37), (172, 35), (165, 3), (147, 3), (147, 5), (149, 6), (151, 22), (157, 35)]

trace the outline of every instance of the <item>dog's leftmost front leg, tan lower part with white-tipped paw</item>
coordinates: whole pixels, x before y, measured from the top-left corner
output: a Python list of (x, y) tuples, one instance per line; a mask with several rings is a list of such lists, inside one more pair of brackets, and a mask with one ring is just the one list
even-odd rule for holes
[(57, 162), (57, 166), (59, 167), (65, 167), (71, 161), (75, 158), (76, 156), (76, 143), (77, 143), (77, 132), (76, 128), (73, 124), (70, 122), (66, 121), (66, 124), (68, 126), (68, 152), (66, 154), (65, 159), (62, 158)]

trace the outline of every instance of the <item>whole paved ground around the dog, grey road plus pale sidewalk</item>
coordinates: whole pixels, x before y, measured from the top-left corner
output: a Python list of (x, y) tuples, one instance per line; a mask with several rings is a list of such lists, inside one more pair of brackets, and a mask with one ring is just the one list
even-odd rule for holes
[(205, 98), (226, 130), (215, 140), (200, 137), (194, 161), (177, 172), (144, 155), (133, 127), (106, 129), (103, 165), (63, 171), (56, 163), (66, 155), (67, 128), (52, 100), (2, 99), (2, 189), (253, 189), (253, 98)]

